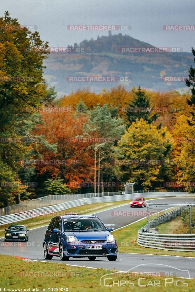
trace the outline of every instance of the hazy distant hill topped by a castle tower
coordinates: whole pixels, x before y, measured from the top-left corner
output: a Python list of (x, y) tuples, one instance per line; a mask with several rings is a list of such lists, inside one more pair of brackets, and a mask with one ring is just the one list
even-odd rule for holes
[[(72, 47), (72, 46), (71, 46)], [(170, 90), (185, 87), (185, 82), (165, 82), (163, 76), (188, 76), (193, 65), (191, 53), (121, 53), (121, 47), (154, 47), (129, 35), (101, 36), (97, 40), (84, 40), (73, 48), (84, 48), (84, 53), (51, 53), (44, 61), (45, 79), (55, 86), (59, 95), (78, 88), (90, 87), (99, 92), (119, 82), (68, 82), (68, 76), (128, 77), (120, 82), (127, 89), (141, 86), (153, 90)]]

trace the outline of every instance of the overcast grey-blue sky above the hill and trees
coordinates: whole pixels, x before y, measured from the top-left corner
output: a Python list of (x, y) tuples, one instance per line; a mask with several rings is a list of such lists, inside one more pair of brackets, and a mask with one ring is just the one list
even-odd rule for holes
[[(195, 25), (193, 0), (0, 0), (0, 15), (9, 11), (21, 25), (36, 25), (51, 47), (78, 44), (107, 31), (69, 31), (68, 25), (131, 25), (123, 32), (156, 47), (191, 52), (195, 31), (165, 31), (163, 25)], [(118, 34), (121, 31), (113, 32)]]

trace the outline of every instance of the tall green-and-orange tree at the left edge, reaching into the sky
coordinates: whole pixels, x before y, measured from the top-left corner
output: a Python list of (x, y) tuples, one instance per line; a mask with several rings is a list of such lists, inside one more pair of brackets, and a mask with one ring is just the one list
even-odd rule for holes
[[(9, 138), (9, 142), (0, 143), (0, 181), (20, 181), (18, 178), (18, 159), (23, 159), (28, 147), (23, 142), (10, 142), (13, 137), (24, 139), (16, 131), (30, 113), (24, 114), (24, 108), (40, 106), (46, 97), (43, 79), (43, 60), (48, 47), (38, 32), (31, 33), (21, 27), (16, 18), (6, 12), (0, 18), (0, 135)], [(10, 29), (4, 29), (10, 27)], [(34, 47), (41, 47), (36, 51)], [(6, 171), (4, 171), (6, 169)], [(7, 175), (6, 175), (7, 173)], [(22, 187), (21, 187), (22, 190)], [(1, 187), (1, 197), (7, 206), (13, 201), (18, 188)]]

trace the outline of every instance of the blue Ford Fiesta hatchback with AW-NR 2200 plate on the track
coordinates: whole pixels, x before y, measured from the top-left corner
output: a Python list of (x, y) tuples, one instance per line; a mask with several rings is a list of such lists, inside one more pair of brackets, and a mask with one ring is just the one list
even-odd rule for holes
[(43, 242), (44, 258), (61, 260), (72, 258), (107, 257), (117, 259), (115, 238), (102, 221), (94, 215), (67, 215), (53, 218), (47, 227)]

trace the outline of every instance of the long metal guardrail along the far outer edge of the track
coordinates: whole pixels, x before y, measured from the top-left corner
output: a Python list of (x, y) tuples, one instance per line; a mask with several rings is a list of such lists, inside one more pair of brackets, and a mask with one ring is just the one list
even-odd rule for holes
[[(89, 194), (88, 194), (89, 195)], [(141, 193), (140, 193), (141, 195)], [(167, 197), (167, 196), (172, 196), (172, 193), (168, 192), (158, 192), (158, 193), (142, 193), (142, 196), (144, 195), (145, 198), (151, 198), (151, 197)], [(68, 196), (73, 196), (73, 195), (68, 195)], [(194, 196), (194, 194), (188, 194), (187, 192), (178, 192), (174, 193), (174, 196), (177, 197), (185, 197), (185, 196)], [(8, 224), (8, 223), (13, 223), (17, 221), (21, 221), (24, 219), (29, 219), (33, 218), (36, 216), (44, 215), (44, 214), (49, 214), (52, 212), (58, 212), (58, 211), (63, 211), (67, 208), (72, 208), (72, 207), (78, 207), (82, 206), (85, 204), (92, 204), (92, 203), (103, 203), (103, 202), (109, 202), (109, 201), (124, 201), (124, 200), (131, 200), (135, 197), (135, 194), (123, 194), (123, 195), (115, 195), (115, 196), (104, 196), (104, 197), (93, 197), (93, 198), (82, 198), (82, 199), (77, 199), (77, 200), (72, 200), (72, 201), (65, 201), (64, 203), (53, 205), (53, 206), (48, 206), (48, 207), (43, 207), (43, 208), (35, 208), (30, 211), (21, 211), (15, 214), (10, 214), (10, 215), (5, 215), (0, 217), (0, 225)], [(102, 205), (103, 207), (103, 205)]]

